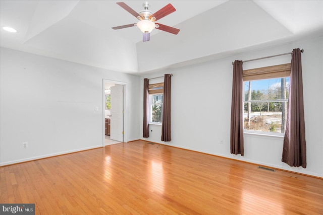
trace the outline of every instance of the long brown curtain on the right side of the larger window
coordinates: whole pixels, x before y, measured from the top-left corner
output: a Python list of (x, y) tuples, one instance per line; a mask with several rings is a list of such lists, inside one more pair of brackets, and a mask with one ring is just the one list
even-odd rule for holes
[(282, 162), (291, 167), (306, 168), (306, 141), (303, 104), (301, 51), (292, 52), (288, 112)]

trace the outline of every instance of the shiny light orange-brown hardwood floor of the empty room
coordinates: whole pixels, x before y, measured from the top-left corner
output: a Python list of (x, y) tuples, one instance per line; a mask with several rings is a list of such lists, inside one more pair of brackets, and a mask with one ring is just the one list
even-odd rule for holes
[(0, 168), (36, 214), (323, 214), (323, 180), (146, 141)]

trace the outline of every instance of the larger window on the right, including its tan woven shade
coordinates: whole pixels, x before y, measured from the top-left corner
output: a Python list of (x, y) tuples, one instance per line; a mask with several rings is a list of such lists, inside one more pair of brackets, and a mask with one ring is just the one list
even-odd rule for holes
[(243, 71), (245, 131), (285, 132), (289, 73), (290, 63)]

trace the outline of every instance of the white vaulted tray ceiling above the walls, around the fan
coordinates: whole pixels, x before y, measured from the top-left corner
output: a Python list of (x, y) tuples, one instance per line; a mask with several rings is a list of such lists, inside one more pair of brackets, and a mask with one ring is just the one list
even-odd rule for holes
[(117, 2), (1, 0), (1, 27), (18, 33), (1, 28), (0, 45), (139, 75), (323, 35), (323, 1), (149, 1), (152, 12), (171, 3), (177, 11), (158, 22), (181, 31), (154, 29), (142, 42), (137, 27), (111, 28), (137, 22)]

